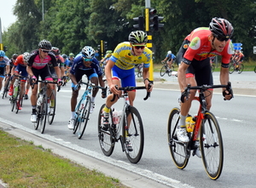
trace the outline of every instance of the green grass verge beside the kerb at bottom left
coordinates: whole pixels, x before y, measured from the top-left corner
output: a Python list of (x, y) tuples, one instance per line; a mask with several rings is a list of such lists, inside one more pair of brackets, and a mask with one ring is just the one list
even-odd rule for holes
[(0, 179), (9, 187), (126, 187), (0, 130)]

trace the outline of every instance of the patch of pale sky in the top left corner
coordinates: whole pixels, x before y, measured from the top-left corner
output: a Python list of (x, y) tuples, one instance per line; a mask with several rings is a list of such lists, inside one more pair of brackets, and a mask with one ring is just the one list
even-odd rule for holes
[[(2, 3), (0, 18), (2, 23), (2, 31), (6, 31), (16, 21), (16, 16), (13, 14), (13, 8), (16, 0), (0, 0)], [(4, 2), (4, 3), (3, 3)]]

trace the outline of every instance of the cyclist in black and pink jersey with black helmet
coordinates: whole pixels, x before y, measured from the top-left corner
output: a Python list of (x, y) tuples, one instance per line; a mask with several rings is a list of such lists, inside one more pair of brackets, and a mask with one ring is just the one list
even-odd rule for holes
[[(31, 104), (32, 104), (32, 122), (37, 122), (37, 94), (38, 94), (38, 77), (40, 76), (42, 80), (49, 80), (53, 81), (48, 64), (51, 62), (53, 65), (55, 72), (58, 78), (58, 84), (61, 85), (61, 72), (57, 65), (55, 54), (51, 53), (52, 46), (51, 43), (47, 40), (42, 40), (38, 43), (38, 49), (34, 50), (30, 55), (28, 60), (26, 71), (30, 75), (32, 83), (34, 83), (34, 87), (32, 88), (32, 95), (31, 95)], [(52, 84), (49, 84), (48, 89), (53, 89)], [(47, 93), (49, 94), (50, 91)]]

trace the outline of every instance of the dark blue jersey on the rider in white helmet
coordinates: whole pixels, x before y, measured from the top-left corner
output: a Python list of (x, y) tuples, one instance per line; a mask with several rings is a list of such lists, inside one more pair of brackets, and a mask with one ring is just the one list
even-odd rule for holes
[(99, 66), (99, 61), (96, 60), (96, 58), (93, 58), (90, 66), (86, 67), (86, 66), (84, 66), (84, 59), (83, 59), (82, 54), (79, 54), (73, 60), (73, 66), (71, 67), (70, 73), (75, 75), (77, 70), (90, 71), (92, 69), (94, 69), (96, 71), (96, 74), (98, 76), (102, 76), (102, 69)]

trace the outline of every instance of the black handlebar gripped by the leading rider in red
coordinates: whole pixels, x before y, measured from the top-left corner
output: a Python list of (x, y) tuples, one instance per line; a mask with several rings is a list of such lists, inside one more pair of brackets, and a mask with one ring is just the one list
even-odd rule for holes
[(234, 97), (230, 82), (227, 85), (202, 85), (202, 86), (193, 86), (193, 87), (191, 87), (191, 85), (188, 84), (188, 86), (185, 88), (185, 90), (181, 94), (180, 100), (184, 103), (185, 99), (186, 100), (189, 99), (190, 89), (199, 89), (200, 92), (204, 92), (209, 88), (226, 88), (223, 92), (223, 95), (226, 95), (225, 91), (228, 91), (228, 94), (231, 94), (231, 99)]

